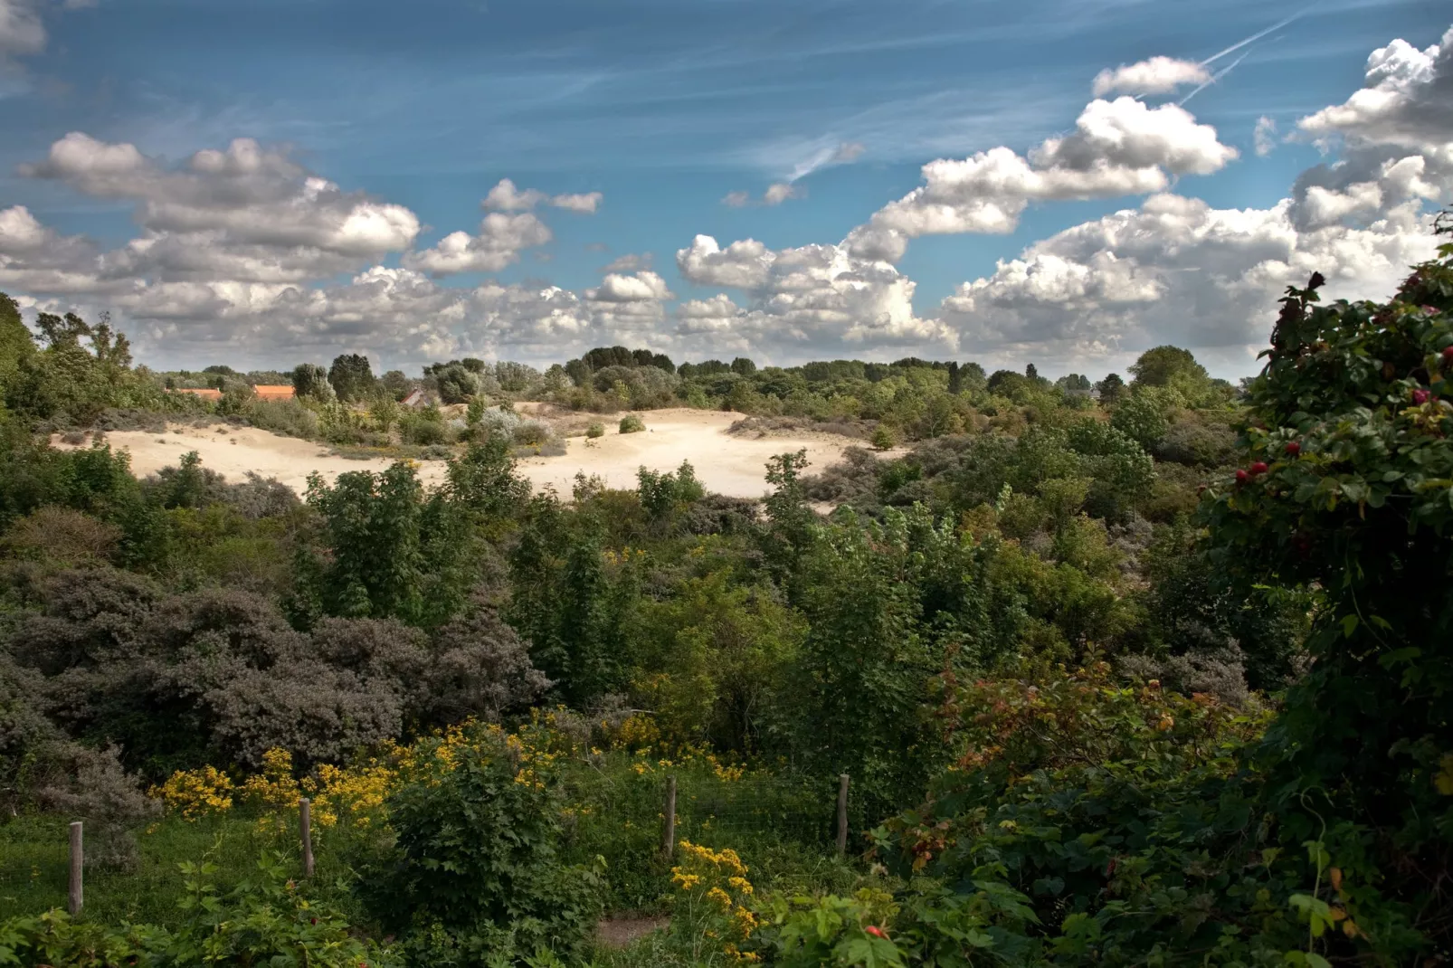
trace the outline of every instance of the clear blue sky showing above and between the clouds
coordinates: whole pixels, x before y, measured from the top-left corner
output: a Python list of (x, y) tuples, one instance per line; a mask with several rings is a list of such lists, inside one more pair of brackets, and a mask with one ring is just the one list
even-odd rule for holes
[[(450, 317), (449, 334), (436, 333), (417, 346), (401, 339), (395, 307), (381, 312), (372, 336), (363, 327), (350, 337), (384, 363), (418, 362), (446, 349), (543, 360), (551, 356), (546, 350), (622, 334), (681, 358), (756, 349), (764, 359), (796, 362), (853, 349), (862, 352), (851, 355), (894, 356), (902, 355), (901, 347), (963, 359), (1032, 355), (1032, 339), (985, 339), (982, 330), (992, 323), (981, 320), (982, 314), (975, 323), (955, 324), (955, 334), (936, 333), (918, 343), (912, 340), (927, 328), (915, 330), (915, 337), (898, 333), (881, 342), (844, 342), (841, 331), (850, 328), (844, 318), (834, 320), (835, 333), (812, 330), (792, 339), (772, 336), (802, 328), (790, 320), (742, 323), (741, 331), (750, 336), (741, 339), (722, 336), (729, 328), (722, 323), (715, 342), (697, 343), (676, 327), (674, 308), (724, 289), (699, 273), (683, 275), (676, 253), (699, 234), (724, 247), (758, 240), (773, 251), (834, 246), (920, 186), (920, 167), (934, 158), (968, 158), (997, 145), (1026, 154), (1072, 131), (1091, 100), (1093, 78), (1104, 68), (1157, 55), (1203, 61), (1286, 22), (1215, 61), (1213, 70), (1235, 65), (1184, 105), (1238, 157), (1209, 174), (1173, 173), (1170, 179), (1171, 192), (1215, 209), (1271, 209), (1289, 198), (1299, 173), (1337, 151), (1311, 138), (1283, 141), (1298, 121), (1345, 102), (1369, 83), (1364, 71), (1373, 49), (1395, 38), (1427, 49), (1453, 20), (1446, 3), (1427, 0), (1312, 6), (1279, 0), (3, 0), (0, 7), (38, 19), (45, 31), (41, 47), (33, 38), (10, 45), (0, 81), (0, 129), (6, 132), (0, 209), (25, 206), (57, 240), (84, 237), (105, 251), (150, 231), (147, 225), (138, 230), (135, 195), (77, 190), (74, 180), (19, 173), (44, 160), (68, 132), (132, 144), (160, 169), (183, 166), (203, 148), (253, 138), (285, 148), (292, 161), (343, 192), (366, 192), (410, 209), (420, 222), (408, 243), (413, 250), (434, 246), (449, 233), (475, 231), (481, 199), (500, 179), (546, 195), (602, 193), (594, 214), (542, 209), (552, 241), (520, 250), (517, 260), (495, 272), (433, 278), (430, 285), (440, 289), (474, 291), (495, 281), (526, 289), (554, 285), (584, 299), (587, 289), (602, 285), (602, 270), (613, 259), (651, 253), (652, 270), (673, 294), (658, 299), (651, 326), (622, 330), (619, 320), (597, 314), (570, 333), (514, 340), (509, 320), (488, 312), (475, 318), (468, 310)], [(1181, 89), (1168, 100), (1187, 93)], [(1264, 157), (1252, 140), (1263, 118), (1277, 129), (1276, 147)], [(1433, 131), (1427, 144), (1436, 148), (1444, 135), (1453, 138)], [(1363, 135), (1348, 129), (1341, 137)], [(849, 163), (793, 180), (811, 169), (814, 157), (838, 145), (854, 145)], [(770, 185), (788, 182), (798, 196), (779, 205), (722, 202), (731, 192), (760, 199)], [(1004, 234), (914, 235), (895, 262), (897, 272), (915, 283), (914, 314), (930, 318), (960, 283), (992, 278), (997, 260), (1135, 208), (1145, 195), (1032, 201), (1017, 227)], [(1424, 196), (1430, 211), (1436, 203)], [(394, 249), (360, 265), (339, 263), (337, 272), (298, 285), (346, 285), (368, 262), (398, 267), (402, 259)], [(99, 310), (118, 302), (100, 286), (36, 288), (33, 275), (6, 279), (0, 273), (0, 283), (12, 292), (31, 285), (35, 307), (64, 302)], [(773, 292), (728, 295), (742, 312), (753, 312)], [(1274, 299), (1274, 292), (1268, 295)], [(283, 339), (238, 311), (183, 318), (119, 304), (124, 318), (135, 318), (144, 352), (169, 365), (222, 346), (250, 362), (283, 363), (299, 352), (325, 349), (327, 334), (343, 331), (320, 323), (311, 340), (299, 336), (308, 320), (298, 320)], [(1268, 318), (1270, 305), (1266, 310)], [(971, 330), (974, 339), (965, 339)], [(1120, 331), (1104, 324), (1088, 343), (1081, 339), (1078, 349), (1064, 333), (1049, 334), (1043, 359), (1051, 369), (1085, 356), (1109, 368), (1155, 336), (1144, 320), (1130, 320)], [(1238, 340), (1207, 343), (1212, 365), (1228, 375), (1254, 369), (1248, 350), (1254, 342)]]

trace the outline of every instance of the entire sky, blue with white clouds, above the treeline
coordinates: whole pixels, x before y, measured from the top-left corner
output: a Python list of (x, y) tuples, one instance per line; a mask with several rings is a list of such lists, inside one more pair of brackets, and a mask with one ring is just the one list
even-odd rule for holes
[(0, 0), (0, 291), (154, 368), (1258, 369), (1453, 201), (1446, 0)]

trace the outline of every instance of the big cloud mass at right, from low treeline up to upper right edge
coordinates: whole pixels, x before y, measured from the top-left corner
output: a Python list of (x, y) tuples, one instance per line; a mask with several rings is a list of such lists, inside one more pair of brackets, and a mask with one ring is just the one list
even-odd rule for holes
[[(1408, 265), (1431, 257), (1427, 202), (1453, 189), (1450, 38), (1379, 48), (1363, 90), (1303, 118), (1302, 137), (1341, 153), (1303, 172), (1277, 205), (1218, 209), (1152, 195), (1001, 260), (946, 298), (940, 320), (989, 359), (1110, 365), (1171, 342), (1248, 369), (1284, 286), (1321, 272), (1329, 298), (1388, 295)], [(1276, 125), (1260, 119), (1258, 154), (1274, 138)]]

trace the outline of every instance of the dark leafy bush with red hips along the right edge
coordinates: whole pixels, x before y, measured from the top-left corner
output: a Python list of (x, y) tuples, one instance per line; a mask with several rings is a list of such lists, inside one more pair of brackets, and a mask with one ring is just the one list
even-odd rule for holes
[(1359, 926), (1318, 948), (1409, 961), (1453, 943), (1453, 244), (1383, 304), (1321, 283), (1282, 301), (1205, 517), (1213, 567), (1324, 599), (1258, 750), (1283, 839), (1340, 871), (1305, 903)]

